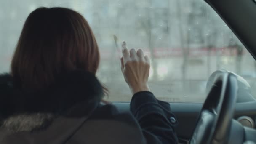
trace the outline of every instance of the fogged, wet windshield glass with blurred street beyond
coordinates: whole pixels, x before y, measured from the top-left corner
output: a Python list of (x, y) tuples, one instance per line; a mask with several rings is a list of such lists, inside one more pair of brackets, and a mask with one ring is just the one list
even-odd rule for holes
[(255, 60), (203, 0), (1, 0), (1, 73), (9, 71), (24, 21), (40, 6), (72, 8), (85, 16), (99, 44), (97, 77), (109, 89), (108, 101), (131, 100), (120, 71), (122, 40), (151, 58), (149, 87), (160, 100), (203, 102), (208, 77), (217, 69), (255, 85)]

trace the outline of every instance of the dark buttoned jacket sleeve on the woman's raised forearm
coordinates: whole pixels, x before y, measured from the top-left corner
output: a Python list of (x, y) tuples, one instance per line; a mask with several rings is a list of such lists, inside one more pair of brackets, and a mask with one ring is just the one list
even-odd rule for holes
[(147, 144), (178, 144), (173, 130), (178, 122), (169, 103), (157, 100), (149, 91), (141, 91), (133, 96), (130, 110), (138, 120)]

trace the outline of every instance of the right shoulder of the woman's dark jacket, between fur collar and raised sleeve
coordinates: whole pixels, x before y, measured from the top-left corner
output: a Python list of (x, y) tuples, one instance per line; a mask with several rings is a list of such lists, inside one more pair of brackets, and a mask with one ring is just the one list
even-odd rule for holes
[(96, 109), (70, 141), (74, 139), (88, 144), (146, 144), (131, 112), (119, 112), (113, 105)]

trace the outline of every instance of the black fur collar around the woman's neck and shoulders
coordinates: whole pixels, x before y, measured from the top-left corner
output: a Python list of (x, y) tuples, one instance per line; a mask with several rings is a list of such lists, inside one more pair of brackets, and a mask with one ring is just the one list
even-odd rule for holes
[(2, 74), (0, 127), (15, 132), (41, 129), (60, 115), (86, 115), (102, 97), (101, 84), (85, 71), (63, 72), (55, 84), (33, 93), (17, 88), (10, 74)]

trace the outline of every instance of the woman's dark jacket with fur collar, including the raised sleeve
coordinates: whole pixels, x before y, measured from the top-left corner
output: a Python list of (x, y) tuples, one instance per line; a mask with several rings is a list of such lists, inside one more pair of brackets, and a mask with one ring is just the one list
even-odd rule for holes
[(178, 143), (169, 104), (151, 92), (136, 93), (124, 113), (102, 97), (99, 81), (84, 71), (64, 72), (38, 91), (0, 75), (0, 144)]

